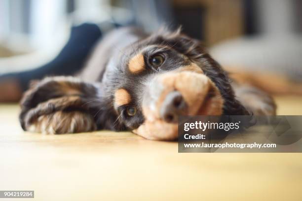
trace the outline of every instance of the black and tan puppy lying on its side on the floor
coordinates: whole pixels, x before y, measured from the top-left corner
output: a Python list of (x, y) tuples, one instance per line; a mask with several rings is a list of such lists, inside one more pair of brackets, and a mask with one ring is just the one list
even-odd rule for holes
[(119, 28), (96, 44), (81, 72), (34, 81), (21, 100), (23, 130), (133, 131), (174, 140), (180, 115), (275, 115), (265, 92), (232, 80), (201, 41), (181, 29)]

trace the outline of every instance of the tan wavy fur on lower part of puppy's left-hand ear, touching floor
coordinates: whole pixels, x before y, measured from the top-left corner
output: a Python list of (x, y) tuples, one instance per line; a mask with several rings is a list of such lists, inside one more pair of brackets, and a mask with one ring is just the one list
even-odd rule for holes
[(44, 134), (80, 133), (96, 130), (93, 117), (81, 111), (65, 111), (69, 107), (85, 109), (78, 96), (50, 99), (28, 111), (26, 130)]

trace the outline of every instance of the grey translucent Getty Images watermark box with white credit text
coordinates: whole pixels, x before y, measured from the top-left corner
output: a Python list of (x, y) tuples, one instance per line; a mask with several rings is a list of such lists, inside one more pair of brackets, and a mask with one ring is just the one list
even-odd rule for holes
[(181, 116), (179, 152), (302, 152), (302, 116)]

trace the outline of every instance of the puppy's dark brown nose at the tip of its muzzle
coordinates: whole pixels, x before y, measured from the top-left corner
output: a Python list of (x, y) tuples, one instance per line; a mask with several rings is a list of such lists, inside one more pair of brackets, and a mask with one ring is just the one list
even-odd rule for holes
[(160, 107), (160, 117), (166, 122), (177, 122), (180, 115), (184, 115), (187, 104), (178, 91), (170, 92)]

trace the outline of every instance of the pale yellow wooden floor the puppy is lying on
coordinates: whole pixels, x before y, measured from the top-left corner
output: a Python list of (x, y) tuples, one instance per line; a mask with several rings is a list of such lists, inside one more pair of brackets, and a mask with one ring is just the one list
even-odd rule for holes
[[(277, 104), (278, 114), (302, 114), (302, 97)], [(18, 110), (0, 105), (0, 190), (35, 190), (27, 200), (302, 200), (300, 153), (178, 153), (176, 142), (127, 132), (24, 133)]]

